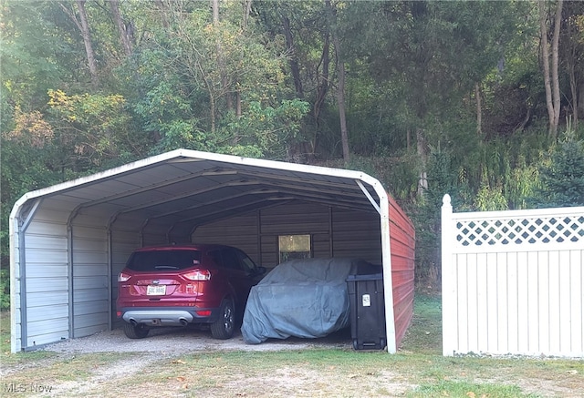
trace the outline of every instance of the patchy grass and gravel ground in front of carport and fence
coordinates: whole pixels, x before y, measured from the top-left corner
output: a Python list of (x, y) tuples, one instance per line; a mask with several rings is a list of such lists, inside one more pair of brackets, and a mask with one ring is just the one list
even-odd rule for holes
[[(2, 367), (9, 373), (2, 378), (0, 396), (584, 396), (583, 360), (443, 357), (440, 305), (437, 296), (416, 296), (412, 326), (394, 355), (334, 348), (172, 357), (147, 352), (11, 354), (9, 317), (2, 313)], [(51, 392), (38, 394), (33, 391), (37, 385)]]

